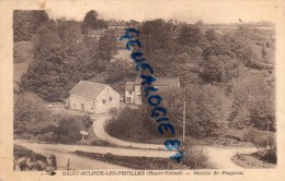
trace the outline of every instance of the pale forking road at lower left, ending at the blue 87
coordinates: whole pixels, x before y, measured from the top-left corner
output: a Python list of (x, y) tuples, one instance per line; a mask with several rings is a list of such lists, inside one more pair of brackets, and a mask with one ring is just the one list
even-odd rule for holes
[(26, 141), (15, 140), (14, 144), (22, 145), (29, 149), (34, 150), (37, 154), (46, 156), (50, 154), (57, 157), (57, 162), (60, 168), (66, 168), (68, 158), (70, 159), (71, 169), (121, 169), (125, 170), (128, 168), (111, 165), (102, 161), (96, 161), (86, 157), (77, 156), (72, 154), (76, 150), (82, 150), (88, 153), (96, 154), (113, 154), (118, 156), (133, 156), (133, 157), (161, 157), (168, 158), (174, 155), (173, 152), (168, 150), (148, 150), (148, 149), (132, 149), (132, 148), (117, 148), (117, 147), (103, 147), (103, 146), (88, 146), (88, 145), (65, 145), (65, 144), (43, 144), (43, 143), (31, 143)]

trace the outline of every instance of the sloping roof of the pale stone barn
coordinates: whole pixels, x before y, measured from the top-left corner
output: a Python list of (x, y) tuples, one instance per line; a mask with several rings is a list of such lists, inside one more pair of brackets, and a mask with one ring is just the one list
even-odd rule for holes
[(77, 96), (95, 98), (106, 86), (106, 84), (80, 81), (69, 93)]

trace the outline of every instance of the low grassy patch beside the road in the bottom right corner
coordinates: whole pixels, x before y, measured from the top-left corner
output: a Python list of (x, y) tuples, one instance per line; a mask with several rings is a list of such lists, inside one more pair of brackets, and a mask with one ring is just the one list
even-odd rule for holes
[(275, 168), (276, 165), (260, 160), (254, 154), (237, 154), (231, 160), (244, 168)]

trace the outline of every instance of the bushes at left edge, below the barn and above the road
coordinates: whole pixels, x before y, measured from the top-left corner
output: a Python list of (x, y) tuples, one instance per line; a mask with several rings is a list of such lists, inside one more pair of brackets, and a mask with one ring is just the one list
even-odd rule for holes
[(34, 94), (16, 97), (14, 107), (14, 137), (56, 143), (79, 143), (80, 131), (92, 125), (89, 116), (50, 114), (44, 101)]

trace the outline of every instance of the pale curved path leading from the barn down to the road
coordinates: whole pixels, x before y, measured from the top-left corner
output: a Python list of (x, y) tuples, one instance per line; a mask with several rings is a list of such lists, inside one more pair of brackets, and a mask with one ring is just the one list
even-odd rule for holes
[(105, 132), (104, 128), (107, 120), (110, 120), (111, 118), (112, 118), (111, 116), (106, 116), (106, 114), (91, 117), (91, 119), (94, 121), (93, 122), (94, 133), (100, 140), (107, 141), (110, 143), (124, 146), (124, 147), (134, 147), (134, 148), (142, 148), (142, 149), (166, 149), (164, 145), (127, 142), (109, 135)]

